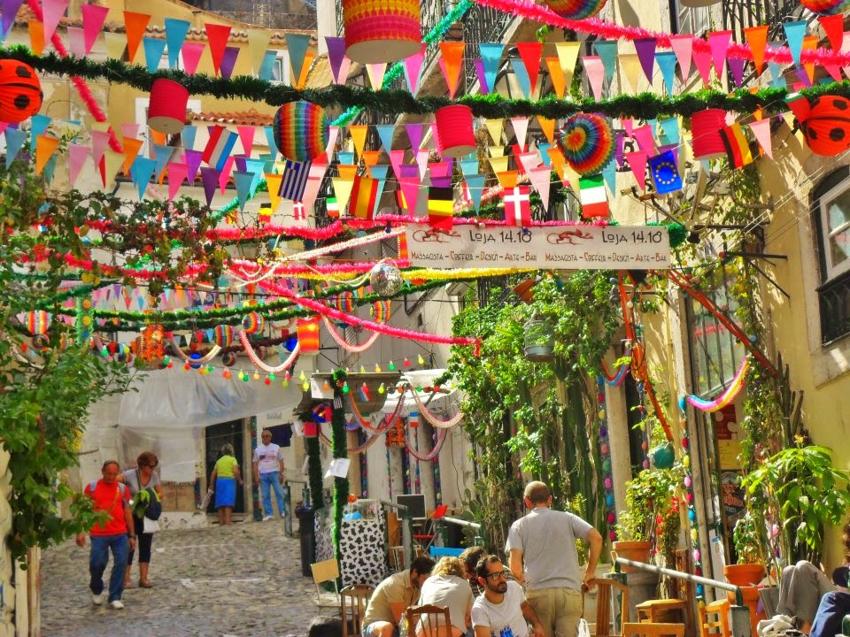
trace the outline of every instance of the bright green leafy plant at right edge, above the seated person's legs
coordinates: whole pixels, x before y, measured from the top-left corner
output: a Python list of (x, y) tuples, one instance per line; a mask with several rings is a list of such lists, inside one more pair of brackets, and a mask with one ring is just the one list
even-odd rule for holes
[(771, 538), (789, 563), (820, 562), (823, 527), (841, 523), (850, 507), (850, 472), (831, 464), (831, 449), (798, 436), (791, 449), (769, 457), (741, 481), (777, 526)]

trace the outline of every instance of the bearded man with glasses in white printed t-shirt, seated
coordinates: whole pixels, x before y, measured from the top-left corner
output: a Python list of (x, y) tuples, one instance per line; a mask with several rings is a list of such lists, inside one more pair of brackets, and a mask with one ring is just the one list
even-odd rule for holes
[(478, 563), (478, 582), (483, 595), (472, 605), (475, 637), (544, 637), (543, 625), (525, 599), (522, 587), (507, 580), (504, 564), (498, 556), (484, 556)]

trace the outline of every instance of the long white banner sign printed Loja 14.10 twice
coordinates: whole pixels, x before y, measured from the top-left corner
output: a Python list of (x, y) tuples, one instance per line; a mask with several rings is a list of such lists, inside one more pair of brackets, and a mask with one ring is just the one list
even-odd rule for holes
[(410, 265), (432, 268), (666, 270), (664, 226), (408, 226)]

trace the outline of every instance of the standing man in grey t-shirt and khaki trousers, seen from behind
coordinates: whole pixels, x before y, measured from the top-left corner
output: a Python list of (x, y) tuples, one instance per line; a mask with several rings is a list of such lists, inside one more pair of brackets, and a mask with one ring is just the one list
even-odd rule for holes
[[(511, 572), (526, 587), (545, 637), (575, 637), (582, 617), (582, 591), (591, 589), (596, 576), (602, 535), (573, 513), (552, 510), (552, 491), (545, 483), (529, 482), (524, 496), (529, 511), (507, 534)], [(576, 540), (590, 545), (583, 574)]]

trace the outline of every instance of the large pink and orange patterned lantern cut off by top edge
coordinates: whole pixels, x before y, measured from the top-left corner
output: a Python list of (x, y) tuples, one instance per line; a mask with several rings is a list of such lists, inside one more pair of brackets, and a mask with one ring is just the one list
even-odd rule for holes
[(378, 64), (409, 58), (421, 50), (419, 0), (343, 0), (345, 55)]

